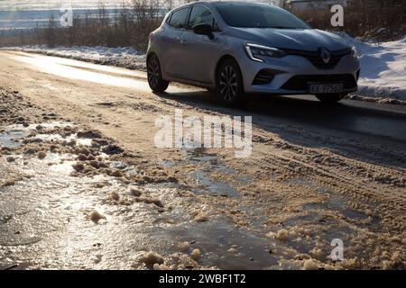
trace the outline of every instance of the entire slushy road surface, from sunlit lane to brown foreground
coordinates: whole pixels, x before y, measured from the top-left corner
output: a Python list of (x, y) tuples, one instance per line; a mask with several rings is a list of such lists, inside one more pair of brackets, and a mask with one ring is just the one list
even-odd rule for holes
[[(152, 94), (124, 68), (13, 51), (0, 67), (4, 94), (21, 97), (0, 130), (0, 267), (405, 267), (404, 106), (301, 96), (228, 109), (183, 85)], [(156, 148), (154, 121), (175, 109), (252, 116), (251, 157)], [(106, 167), (86, 170), (93, 157)]]

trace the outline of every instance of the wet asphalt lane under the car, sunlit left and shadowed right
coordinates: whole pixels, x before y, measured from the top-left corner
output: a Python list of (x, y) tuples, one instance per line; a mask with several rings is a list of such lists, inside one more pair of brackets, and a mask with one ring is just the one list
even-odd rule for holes
[[(78, 79), (101, 85), (112, 85), (151, 93), (146, 74), (119, 67), (106, 67), (65, 58), (46, 57), (23, 52), (0, 51), (0, 58), (26, 64), (27, 67), (63, 78)], [(17, 64), (16, 63), (16, 64)], [(190, 91), (192, 90), (192, 92)], [(212, 110), (225, 111), (213, 96), (200, 89), (170, 86), (163, 97), (191, 103)], [(300, 96), (251, 96), (245, 109), (226, 110), (235, 114), (259, 114), (313, 127), (345, 130), (383, 139), (406, 142), (406, 105), (367, 103), (346, 100), (337, 105), (318, 102), (312, 95)]]

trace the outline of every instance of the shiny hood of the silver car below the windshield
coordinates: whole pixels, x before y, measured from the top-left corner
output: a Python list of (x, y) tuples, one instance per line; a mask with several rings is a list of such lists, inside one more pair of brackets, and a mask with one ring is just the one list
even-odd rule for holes
[(317, 29), (229, 28), (227, 34), (256, 44), (285, 49), (315, 51), (320, 47), (329, 50), (348, 48), (337, 34)]

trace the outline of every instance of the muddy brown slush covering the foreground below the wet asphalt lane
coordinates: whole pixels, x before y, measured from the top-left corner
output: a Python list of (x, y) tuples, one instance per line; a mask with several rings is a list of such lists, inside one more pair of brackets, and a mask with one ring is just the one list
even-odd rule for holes
[[(9, 88), (0, 95), (0, 267), (405, 267), (401, 144), (258, 116), (249, 158), (205, 148), (158, 152), (148, 137), (131, 149), (120, 128), (94, 129)], [(172, 99), (136, 102), (193, 109)], [(152, 112), (124, 107), (118, 112), (131, 112), (131, 125), (153, 126)], [(337, 238), (344, 259), (331, 257)]]

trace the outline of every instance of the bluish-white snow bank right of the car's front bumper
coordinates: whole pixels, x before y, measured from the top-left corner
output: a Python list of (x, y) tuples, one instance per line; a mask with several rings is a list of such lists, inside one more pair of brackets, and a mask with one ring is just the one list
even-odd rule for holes
[(391, 42), (362, 42), (346, 34), (361, 62), (357, 95), (406, 101), (406, 38)]

